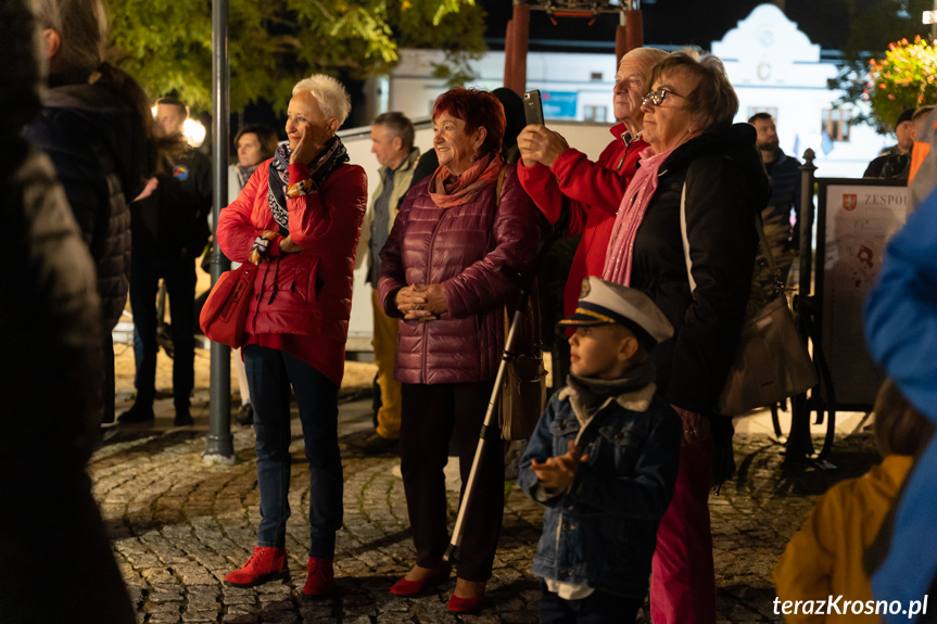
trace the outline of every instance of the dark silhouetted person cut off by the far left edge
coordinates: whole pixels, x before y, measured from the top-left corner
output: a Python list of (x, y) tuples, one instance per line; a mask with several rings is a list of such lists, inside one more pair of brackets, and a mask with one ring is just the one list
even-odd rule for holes
[(0, 268), (8, 293), (0, 306), (0, 621), (134, 624), (85, 474), (99, 426), (94, 264), (52, 163), (22, 136), (40, 106), (28, 4), (0, 2), (0, 214), (16, 232)]

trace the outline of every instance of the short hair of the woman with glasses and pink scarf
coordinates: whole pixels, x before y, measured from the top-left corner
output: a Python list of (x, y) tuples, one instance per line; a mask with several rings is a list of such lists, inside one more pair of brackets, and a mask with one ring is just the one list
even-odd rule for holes
[(722, 61), (712, 54), (700, 54), (693, 48), (679, 50), (654, 67), (650, 87), (661, 76), (678, 72), (686, 72), (697, 79), (696, 88), (686, 95), (696, 129), (702, 132), (727, 129), (738, 112), (738, 95), (725, 75)]

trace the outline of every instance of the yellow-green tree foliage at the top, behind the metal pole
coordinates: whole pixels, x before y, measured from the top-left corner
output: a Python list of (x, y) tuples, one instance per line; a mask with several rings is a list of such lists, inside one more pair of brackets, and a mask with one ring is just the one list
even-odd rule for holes
[[(211, 0), (104, 1), (114, 60), (151, 94), (210, 109)], [(229, 0), (230, 107), (263, 99), (282, 112), (302, 76), (387, 73), (398, 47), (445, 50), (438, 72), (465, 81), (483, 33), (474, 0)]]

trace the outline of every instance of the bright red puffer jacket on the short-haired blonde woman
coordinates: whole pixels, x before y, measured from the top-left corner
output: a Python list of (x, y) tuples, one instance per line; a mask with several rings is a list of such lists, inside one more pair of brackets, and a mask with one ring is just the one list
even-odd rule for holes
[[(278, 230), (267, 202), (271, 162), (257, 167), (238, 199), (221, 211), (218, 244), (232, 260), (248, 262), (254, 240), (264, 230)], [(290, 165), (290, 180), (308, 177), (305, 165)], [(347, 340), (352, 273), (367, 189), (362, 167), (342, 165), (317, 193), (287, 200), (290, 239), (304, 251), (273, 255), (261, 264), (248, 313), (248, 333)], [(279, 239), (270, 242), (274, 254), (278, 244)]]

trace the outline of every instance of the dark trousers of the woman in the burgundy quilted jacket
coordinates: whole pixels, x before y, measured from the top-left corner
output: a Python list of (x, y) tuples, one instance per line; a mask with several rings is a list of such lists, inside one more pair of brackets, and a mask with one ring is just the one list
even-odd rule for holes
[[(414, 530), (417, 564), (440, 565), (449, 543), (443, 468), (456, 432), (463, 491), (471, 471), (493, 382), (404, 383), (401, 387), (401, 472)], [(459, 547), (458, 576), (479, 582), (491, 568), (504, 515), (504, 448), (490, 442), (479, 464), (471, 506)]]

